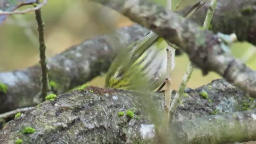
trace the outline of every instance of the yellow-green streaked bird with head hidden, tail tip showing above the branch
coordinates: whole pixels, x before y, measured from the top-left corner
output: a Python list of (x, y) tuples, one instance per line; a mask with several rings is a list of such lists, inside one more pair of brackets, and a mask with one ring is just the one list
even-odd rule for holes
[[(190, 18), (204, 4), (199, 1), (183, 17)], [(117, 54), (107, 72), (105, 86), (126, 90), (155, 90), (166, 77), (166, 47), (165, 39), (150, 31)]]

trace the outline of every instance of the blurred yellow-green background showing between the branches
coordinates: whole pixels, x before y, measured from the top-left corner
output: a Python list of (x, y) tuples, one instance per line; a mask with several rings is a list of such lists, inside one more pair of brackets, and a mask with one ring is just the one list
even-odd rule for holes
[[(165, 5), (164, 0), (153, 1)], [(195, 2), (197, 1), (184, 0), (180, 9)], [(178, 0), (173, 3), (174, 7)], [(22, 7), (22, 9), (26, 9), (26, 7)], [(68, 47), (79, 44), (87, 38), (111, 33), (119, 27), (132, 25), (129, 19), (115, 11), (83, 0), (50, 0), (43, 7), (42, 14), (45, 22), (47, 57), (53, 57), (53, 55), (65, 51)], [(250, 46), (248, 43), (237, 43), (233, 45), (231, 51), (235, 57), (241, 58)], [(25, 15), (11, 15), (0, 26), (0, 71), (24, 69), (33, 66), (38, 61), (34, 12)], [(255, 61), (255, 58), (250, 59), (247, 66), (256, 69)], [(186, 54), (176, 58), (176, 67), (172, 74), (173, 89), (178, 88), (187, 65)], [(220, 77), (214, 73), (202, 76), (201, 71), (196, 69), (188, 86), (195, 88), (216, 78)], [(89, 84), (103, 86), (104, 79), (105, 76), (102, 75), (93, 79)]]

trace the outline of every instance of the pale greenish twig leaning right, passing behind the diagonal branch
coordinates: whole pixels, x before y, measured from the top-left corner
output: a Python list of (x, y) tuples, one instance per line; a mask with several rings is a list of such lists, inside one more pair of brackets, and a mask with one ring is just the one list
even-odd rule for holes
[[(216, 5), (217, 5), (217, 0), (212, 0), (211, 4), (209, 6), (209, 9), (207, 11), (206, 17), (205, 17), (203, 29), (209, 28)], [(194, 70), (194, 67), (193, 67), (192, 63), (190, 62), (188, 65), (188, 69), (187, 69), (185, 75), (183, 76), (182, 82), (179, 87), (179, 91), (175, 94), (174, 99), (171, 104), (171, 107), (170, 107), (171, 120), (173, 119), (173, 115), (178, 107), (180, 96), (184, 93), (184, 90), (187, 86), (187, 83), (188, 83), (192, 73), (193, 73), (193, 70)]]

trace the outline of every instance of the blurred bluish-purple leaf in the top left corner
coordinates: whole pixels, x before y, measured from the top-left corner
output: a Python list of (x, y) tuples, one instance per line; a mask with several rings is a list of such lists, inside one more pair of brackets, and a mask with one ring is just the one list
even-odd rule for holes
[[(11, 12), (20, 6), (35, 3), (36, 0), (0, 0), (0, 13), (1, 11)], [(8, 15), (0, 15), (0, 25)]]

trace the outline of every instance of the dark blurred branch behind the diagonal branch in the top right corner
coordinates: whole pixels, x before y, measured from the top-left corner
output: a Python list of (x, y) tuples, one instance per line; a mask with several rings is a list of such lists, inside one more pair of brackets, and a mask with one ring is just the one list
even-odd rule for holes
[[(206, 3), (190, 20), (203, 25), (210, 3)], [(210, 29), (217, 33), (235, 33), (238, 41), (256, 45), (256, 1), (219, 0), (214, 11)], [(185, 13), (181, 11), (180, 13)]]

